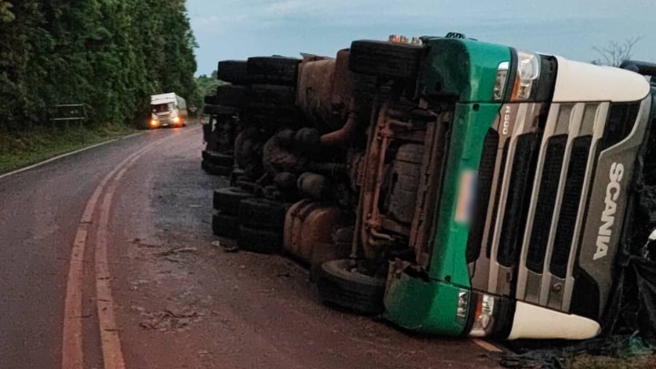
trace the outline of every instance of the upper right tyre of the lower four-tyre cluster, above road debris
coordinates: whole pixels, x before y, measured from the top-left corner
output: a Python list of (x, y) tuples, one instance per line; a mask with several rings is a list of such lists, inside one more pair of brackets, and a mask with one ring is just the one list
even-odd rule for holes
[(265, 198), (249, 198), (239, 204), (239, 225), (282, 232), (289, 206)]

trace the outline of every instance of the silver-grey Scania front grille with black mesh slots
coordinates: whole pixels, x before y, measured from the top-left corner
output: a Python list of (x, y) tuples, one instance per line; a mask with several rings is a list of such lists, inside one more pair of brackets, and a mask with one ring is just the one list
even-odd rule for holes
[[(472, 286), (596, 319), (612, 284), (609, 265), (619, 250), (646, 113), (635, 102), (508, 105), (493, 126), (499, 135), (488, 133), (483, 142), (466, 250)], [(622, 191), (614, 192), (617, 214), (605, 221), (605, 196), (618, 163), (625, 179)], [(600, 224), (613, 227), (604, 255)], [(598, 254), (608, 259), (598, 262)]]

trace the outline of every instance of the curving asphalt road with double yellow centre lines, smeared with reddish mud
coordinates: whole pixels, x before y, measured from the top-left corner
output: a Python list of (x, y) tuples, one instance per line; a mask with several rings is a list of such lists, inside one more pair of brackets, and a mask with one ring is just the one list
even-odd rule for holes
[(197, 126), (148, 131), (0, 179), (0, 368), (497, 366), (321, 305), (288, 259), (212, 246), (226, 180), (201, 150)]

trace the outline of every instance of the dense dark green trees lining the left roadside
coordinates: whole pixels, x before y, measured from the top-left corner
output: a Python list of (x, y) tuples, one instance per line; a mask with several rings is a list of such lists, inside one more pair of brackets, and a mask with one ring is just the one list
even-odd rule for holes
[(92, 122), (140, 121), (149, 96), (199, 106), (185, 0), (0, 0), (0, 131), (84, 103)]

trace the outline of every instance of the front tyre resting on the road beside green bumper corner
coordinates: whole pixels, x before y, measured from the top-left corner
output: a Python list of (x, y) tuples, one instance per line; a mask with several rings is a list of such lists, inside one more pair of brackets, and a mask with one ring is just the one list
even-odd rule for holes
[(327, 261), (314, 270), (319, 297), (364, 315), (382, 313), (386, 280), (352, 271), (348, 259)]

